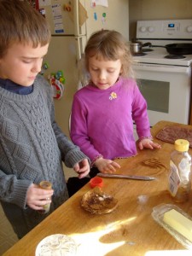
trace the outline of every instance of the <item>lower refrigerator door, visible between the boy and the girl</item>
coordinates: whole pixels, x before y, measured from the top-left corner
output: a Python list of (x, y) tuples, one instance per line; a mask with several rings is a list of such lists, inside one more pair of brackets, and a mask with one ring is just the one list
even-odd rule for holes
[(45, 79), (50, 73), (61, 70), (66, 82), (64, 93), (60, 100), (55, 100), (55, 119), (62, 131), (69, 135), (68, 122), (71, 113), (73, 94), (78, 88), (79, 73), (77, 64), (76, 40), (73, 37), (52, 37), (48, 54), (44, 56), (44, 62), (49, 68), (44, 73)]

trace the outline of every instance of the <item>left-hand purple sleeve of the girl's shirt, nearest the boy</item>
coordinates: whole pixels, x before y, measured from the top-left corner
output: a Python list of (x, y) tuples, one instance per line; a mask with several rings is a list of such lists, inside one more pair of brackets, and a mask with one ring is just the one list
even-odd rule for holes
[(73, 97), (70, 136), (73, 143), (78, 145), (84, 154), (92, 161), (96, 156), (101, 154), (94, 148), (93, 144), (90, 143), (86, 120), (87, 114), (84, 103), (79, 100), (79, 96), (75, 95)]

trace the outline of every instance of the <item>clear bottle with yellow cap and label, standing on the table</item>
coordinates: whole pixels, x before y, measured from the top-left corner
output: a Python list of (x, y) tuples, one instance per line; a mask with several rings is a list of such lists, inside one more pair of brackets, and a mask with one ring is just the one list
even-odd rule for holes
[(176, 202), (189, 200), (191, 190), (191, 156), (188, 153), (189, 142), (178, 139), (171, 154), (168, 189)]

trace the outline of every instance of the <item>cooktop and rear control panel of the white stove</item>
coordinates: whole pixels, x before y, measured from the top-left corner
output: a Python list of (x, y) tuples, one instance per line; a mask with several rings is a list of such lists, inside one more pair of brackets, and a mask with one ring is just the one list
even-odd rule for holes
[[(153, 45), (189, 43), (192, 44), (192, 20), (138, 20), (137, 41)], [(152, 50), (153, 49), (153, 50)], [(161, 65), (192, 65), (192, 55), (173, 55), (170, 58), (166, 48), (143, 47), (143, 55), (133, 56), (134, 62)]]

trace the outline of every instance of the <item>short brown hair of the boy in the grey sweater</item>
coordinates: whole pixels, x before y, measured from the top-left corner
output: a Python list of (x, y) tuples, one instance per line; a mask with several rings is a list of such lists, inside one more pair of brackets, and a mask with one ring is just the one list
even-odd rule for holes
[(44, 16), (26, 1), (0, 0), (0, 58), (12, 44), (49, 44), (50, 30)]

